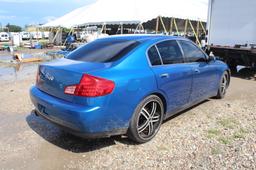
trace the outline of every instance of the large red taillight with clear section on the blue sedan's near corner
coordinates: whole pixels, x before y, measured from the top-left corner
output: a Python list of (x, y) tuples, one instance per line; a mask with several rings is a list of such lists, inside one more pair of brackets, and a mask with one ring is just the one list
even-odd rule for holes
[(111, 80), (84, 74), (79, 84), (65, 87), (64, 93), (75, 96), (105, 96), (114, 90), (115, 83)]

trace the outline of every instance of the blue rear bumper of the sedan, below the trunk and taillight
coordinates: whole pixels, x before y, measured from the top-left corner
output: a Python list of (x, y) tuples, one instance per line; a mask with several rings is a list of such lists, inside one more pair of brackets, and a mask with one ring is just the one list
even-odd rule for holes
[(60, 126), (64, 130), (84, 138), (109, 137), (125, 134), (127, 127), (108, 124), (102, 116), (101, 107), (73, 104), (42, 92), (37, 87), (30, 89), (30, 98), (35, 113)]

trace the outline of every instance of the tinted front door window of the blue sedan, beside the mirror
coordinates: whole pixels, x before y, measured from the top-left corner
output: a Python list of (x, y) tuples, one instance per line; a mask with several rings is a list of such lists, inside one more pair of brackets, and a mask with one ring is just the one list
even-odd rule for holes
[(184, 55), (188, 62), (204, 62), (204, 53), (194, 44), (189, 41), (180, 41), (180, 45), (183, 49)]

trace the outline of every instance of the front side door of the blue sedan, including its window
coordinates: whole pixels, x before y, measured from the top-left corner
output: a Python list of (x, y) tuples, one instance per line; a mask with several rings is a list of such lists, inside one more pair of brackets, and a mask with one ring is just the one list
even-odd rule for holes
[(207, 61), (206, 54), (191, 41), (178, 41), (186, 63), (193, 71), (191, 102), (200, 101), (216, 93), (217, 74), (215, 66)]

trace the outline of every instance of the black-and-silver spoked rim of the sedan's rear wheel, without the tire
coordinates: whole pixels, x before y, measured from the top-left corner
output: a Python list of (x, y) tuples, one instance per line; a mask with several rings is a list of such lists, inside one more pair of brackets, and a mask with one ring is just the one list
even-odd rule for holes
[(158, 132), (162, 121), (161, 115), (158, 101), (150, 101), (142, 107), (137, 122), (137, 132), (141, 138), (148, 139)]

